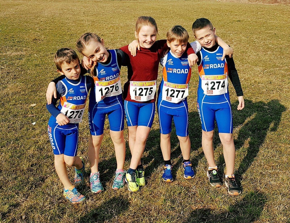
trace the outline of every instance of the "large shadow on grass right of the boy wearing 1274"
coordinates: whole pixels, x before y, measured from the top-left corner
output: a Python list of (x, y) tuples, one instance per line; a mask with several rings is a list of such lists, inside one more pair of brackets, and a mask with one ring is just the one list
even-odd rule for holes
[[(241, 126), (238, 138), (234, 140), (235, 147), (238, 149), (246, 147), (247, 149), (247, 154), (236, 171), (238, 178), (240, 178), (258, 155), (267, 132), (277, 130), (281, 115), (286, 108), (278, 100), (271, 100), (268, 103), (245, 100), (245, 108), (241, 111), (236, 109), (237, 106), (237, 101), (232, 104), (234, 126)], [(223, 166), (220, 164), (224, 163), (224, 157), (220, 156), (217, 163), (221, 173), (223, 173)]]

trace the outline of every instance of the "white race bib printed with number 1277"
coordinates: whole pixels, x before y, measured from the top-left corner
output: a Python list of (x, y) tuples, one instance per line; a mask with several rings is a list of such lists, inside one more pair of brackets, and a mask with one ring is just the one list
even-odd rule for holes
[(188, 96), (188, 84), (173, 84), (164, 81), (162, 88), (162, 100), (178, 103)]

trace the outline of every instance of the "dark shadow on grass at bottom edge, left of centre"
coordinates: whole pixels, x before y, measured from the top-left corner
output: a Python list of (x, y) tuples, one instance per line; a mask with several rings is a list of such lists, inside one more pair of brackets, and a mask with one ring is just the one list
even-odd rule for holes
[(77, 222), (104, 222), (114, 219), (128, 210), (130, 203), (124, 197), (113, 197), (81, 217)]

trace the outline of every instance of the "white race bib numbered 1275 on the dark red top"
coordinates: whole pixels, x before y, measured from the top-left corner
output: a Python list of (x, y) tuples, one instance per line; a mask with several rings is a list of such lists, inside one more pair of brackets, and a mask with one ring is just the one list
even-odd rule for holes
[(130, 81), (131, 99), (135, 101), (149, 101), (154, 99), (156, 81)]

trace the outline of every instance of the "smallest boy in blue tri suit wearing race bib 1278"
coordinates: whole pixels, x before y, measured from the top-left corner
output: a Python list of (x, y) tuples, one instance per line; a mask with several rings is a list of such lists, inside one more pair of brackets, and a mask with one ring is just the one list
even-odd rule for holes
[[(79, 122), (84, 115), (88, 91), (93, 85), (89, 76), (80, 76), (81, 68), (77, 53), (70, 48), (61, 48), (55, 53), (57, 72), (65, 78), (56, 85), (57, 98), (47, 105), (52, 114), (48, 121), (48, 136), (55, 157), (55, 170), (64, 185), (64, 197), (72, 203), (84, 201), (73, 185), (66, 170), (68, 166), (75, 167), (76, 185), (84, 183), (84, 160), (77, 156)], [(59, 105), (57, 107), (57, 100)]]

